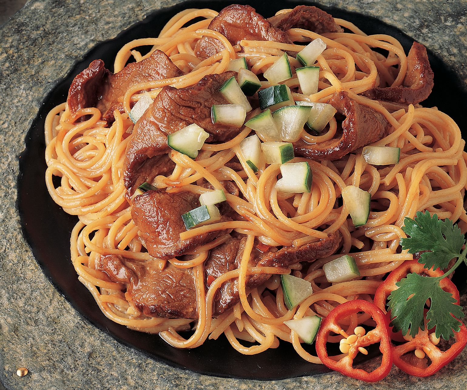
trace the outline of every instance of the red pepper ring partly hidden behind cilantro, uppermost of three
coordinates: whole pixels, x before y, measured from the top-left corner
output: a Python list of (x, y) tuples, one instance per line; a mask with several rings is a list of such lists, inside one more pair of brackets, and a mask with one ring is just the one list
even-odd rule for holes
[[(378, 306), (382, 311), (386, 313), (386, 303), (388, 300), (389, 294), (397, 289), (396, 283), (399, 282), (401, 279), (405, 278), (407, 274), (425, 274), (426, 276), (442, 276), (443, 271), (439, 268), (436, 270), (427, 269), (423, 267), (423, 264), (420, 264), (417, 260), (410, 260), (404, 261), (402, 265), (397, 267), (394, 271), (392, 271), (386, 280), (380, 284), (378, 289), (375, 292), (375, 298), (373, 302), (376, 306)], [(440, 281), (440, 286), (443, 290), (449, 291), (453, 298), (456, 300), (456, 303), (459, 304), (459, 291), (457, 290), (456, 286), (453, 282), (449, 279), (444, 278)], [(390, 320), (390, 318), (389, 318)], [(392, 330), (392, 326), (389, 326), (389, 333), (391, 339), (399, 342), (405, 341), (402, 337), (401, 332), (394, 332)]]

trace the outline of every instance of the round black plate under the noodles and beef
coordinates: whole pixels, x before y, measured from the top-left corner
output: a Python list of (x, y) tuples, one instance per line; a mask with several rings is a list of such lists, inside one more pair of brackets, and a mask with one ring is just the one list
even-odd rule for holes
[[(35, 259), (71, 305), (100, 330), (130, 347), (149, 354), (156, 360), (202, 374), (223, 377), (267, 380), (320, 374), (327, 372), (327, 369), (322, 365), (304, 361), (286, 342), (281, 342), (279, 348), (269, 349), (254, 356), (236, 352), (223, 336), (219, 340), (208, 340), (204, 345), (193, 350), (180, 350), (170, 347), (157, 335), (135, 332), (107, 319), (99, 310), (92, 295), (78, 282), (77, 274), (71, 265), (70, 234), (77, 218), (66, 214), (57, 206), (45, 187), (44, 120), (51, 108), (65, 101), (71, 81), (78, 72), (96, 58), (103, 59), (107, 67), (111, 68), (121, 46), (136, 38), (157, 36), (160, 28), (170, 17), (182, 9), (212, 7), (220, 10), (229, 4), (230, 1), (191, 1), (156, 11), (142, 22), (120, 33), (115, 39), (99, 43), (92, 51), (85, 54), (83, 60), (78, 62), (68, 76), (45, 98), (26, 137), (26, 149), (21, 154), (18, 177), (21, 225)], [(256, 10), (266, 17), (272, 16), (279, 9), (293, 8), (297, 4), (300, 3), (281, 0), (254, 2)], [(375, 18), (335, 8), (321, 8), (335, 17), (354, 22), (368, 34), (388, 34), (396, 37), (406, 51), (413, 42), (412, 38), (400, 30)], [(430, 52), (429, 56), (435, 73), (435, 87), (425, 104), (437, 105), (457, 123), (466, 123), (467, 110), (464, 108), (467, 107), (467, 94), (461, 90), (462, 84), (439, 58)], [(442, 93), (443, 86), (449, 86), (449, 94)], [(442, 99), (439, 98), (441, 96)]]

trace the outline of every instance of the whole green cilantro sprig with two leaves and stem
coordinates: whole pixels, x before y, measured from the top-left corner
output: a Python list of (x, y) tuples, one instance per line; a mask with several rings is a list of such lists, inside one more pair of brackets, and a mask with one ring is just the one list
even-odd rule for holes
[[(415, 219), (405, 218), (402, 228), (407, 238), (401, 239), (402, 249), (409, 253), (422, 252), (418, 262), (424, 268), (447, 268), (449, 262), (457, 258), (456, 263), (439, 277), (407, 274), (396, 283), (398, 289), (389, 295), (391, 325), (403, 334), (410, 332), (415, 337), (418, 328), (425, 329), (424, 307), (429, 299), (431, 305), (426, 313), (426, 326), (435, 328), (436, 337), (449, 339), (453, 332), (459, 332), (462, 323), (457, 318), (464, 317), (462, 307), (456, 304), (452, 294), (443, 290), (441, 279), (451, 274), (462, 262), (467, 264), (465, 237), (459, 227), (449, 219), (440, 220), (428, 211), (417, 212)], [(461, 252), (462, 251), (462, 252)]]

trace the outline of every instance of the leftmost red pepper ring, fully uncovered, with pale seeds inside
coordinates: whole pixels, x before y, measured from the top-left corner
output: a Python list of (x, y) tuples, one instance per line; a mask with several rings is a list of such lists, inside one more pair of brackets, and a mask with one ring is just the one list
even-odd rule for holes
[[(359, 311), (368, 313), (376, 323), (375, 329), (370, 330), (365, 335), (359, 337), (351, 346), (347, 356), (344, 356), (339, 361), (333, 360), (328, 356), (326, 350), (326, 342), (329, 333), (347, 335), (339, 325), (339, 321), (358, 313)], [(368, 347), (369, 345), (380, 343), (380, 351), (382, 353), (381, 365), (373, 371), (368, 372), (361, 368), (354, 368), (353, 363), (355, 356), (358, 354), (359, 347)], [(335, 371), (350, 376), (355, 379), (360, 379), (365, 382), (376, 382), (388, 375), (392, 366), (392, 348), (389, 339), (389, 323), (387, 316), (375, 306), (362, 299), (347, 301), (341, 303), (333, 309), (326, 318), (321, 322), (321, 326), (316, 338), (316, 352), (323, 364)]]

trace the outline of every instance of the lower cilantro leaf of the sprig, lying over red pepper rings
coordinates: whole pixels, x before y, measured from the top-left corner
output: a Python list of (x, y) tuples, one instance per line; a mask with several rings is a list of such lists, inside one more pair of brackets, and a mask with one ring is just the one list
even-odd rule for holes
[(426, 313), (428, 329), (435, 327), (436, 336), (442, 335), (446, 340), (453, 336), (453, 330), (459, 332), (462, 323), (457, 318), (464, 316), (462, 307), (455, 303), (451, 293), (441, 289), (438, 278), (407, 274), (396, 286), (398, 289), (388, 297), (391, 325), (396, 330), (407, 334), (410, 329), (410, 335), (415, 337), (418, 328), (425, 329), (423, 308), (430, 299), (431, 306)]

